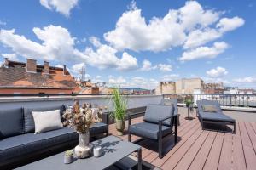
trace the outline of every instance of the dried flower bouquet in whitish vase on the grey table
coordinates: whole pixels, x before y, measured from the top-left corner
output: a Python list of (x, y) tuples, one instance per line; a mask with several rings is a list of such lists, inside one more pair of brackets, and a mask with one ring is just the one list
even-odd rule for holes
[(77, 158), (90, 156), (92, 144), (90, 144), (90, 127), (96, 122), (101, 122), (102, 107), (91, 108), (90, 104), (79, 106), (79, 100), (75, 100), (73, 108), (67, 109), (63, 114), (64, 126), (73, 128), (79, 133), (79, 145), (74, 149)]

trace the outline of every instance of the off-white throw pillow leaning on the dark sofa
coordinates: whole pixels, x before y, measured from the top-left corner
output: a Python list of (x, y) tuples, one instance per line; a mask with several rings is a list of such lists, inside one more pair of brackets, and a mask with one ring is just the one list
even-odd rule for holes
[(62, 128), (60, 110), (32, 111), (35, 122), (35, 134)]

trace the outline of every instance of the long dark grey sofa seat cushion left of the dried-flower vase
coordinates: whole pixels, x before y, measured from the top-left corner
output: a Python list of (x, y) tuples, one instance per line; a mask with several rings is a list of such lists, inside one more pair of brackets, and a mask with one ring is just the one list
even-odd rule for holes
[[(61, 128), (46, 133), (26, 133), (0, 141), (0, 160), (5, 161), (16, 156), (25, 156), (38, 150), (47, 150), (65, 142), (77, 140), (79, 134), (72, 128)], [(1, 163), (1, 162), (0, 162)]]

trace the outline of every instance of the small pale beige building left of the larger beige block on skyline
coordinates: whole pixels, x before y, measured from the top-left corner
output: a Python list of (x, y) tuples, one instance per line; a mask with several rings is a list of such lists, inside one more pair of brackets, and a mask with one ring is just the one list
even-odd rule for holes
[(160, 82), (157, 88), (155, 88), (155, 94), (175, 94), (176, 85), (175, 82)]

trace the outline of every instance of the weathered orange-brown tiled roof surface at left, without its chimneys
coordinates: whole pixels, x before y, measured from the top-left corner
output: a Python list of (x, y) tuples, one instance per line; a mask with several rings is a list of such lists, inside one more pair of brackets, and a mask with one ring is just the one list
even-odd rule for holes
[(37, 65), (37, 73), (26, 72), (26, 63), (9, 61), (8, 68), (0, 67), (0, 88), (67, 88), (79, 90), (73, 77), (63, 69), (50, 67), (44, 74), (44, 66)]

